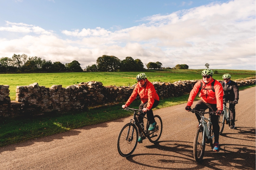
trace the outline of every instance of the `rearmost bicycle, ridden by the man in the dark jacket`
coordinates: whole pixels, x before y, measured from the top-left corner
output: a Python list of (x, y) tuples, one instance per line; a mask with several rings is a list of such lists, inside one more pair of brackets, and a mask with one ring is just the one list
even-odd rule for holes
[[(219, 116), (219, 126), (220, 126), (220, 134), (223, 132), (223, 129), (224, 129), (224, 125), (227, 124), (229, 127), (230, 127), (230, 123), (231, 123), (231, 119), (230, 119), (230, 110), (229, 108), (225, 105), (226, 103), (233, 103), (232, 101), (229, 101), (229, 102), (223, 102), (223, 111), (224, 113), (221, 114)], [(235, 120), (237, 121), (237, 120)]]

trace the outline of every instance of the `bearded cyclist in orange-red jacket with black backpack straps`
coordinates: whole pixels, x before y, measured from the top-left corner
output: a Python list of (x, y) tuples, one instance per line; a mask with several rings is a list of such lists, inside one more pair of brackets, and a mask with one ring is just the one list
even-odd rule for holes
[[(218, 122), (218, 115), (223, 113), (223, 88), (221, 84), (212, 78), (213, 71), (211, 69), (205, 69), (202, 71), (203, 79), (198, 81), (190, 92), (186, 110), (190, 111), (193, 101), (196, 95), (199, 93), (201, 98), (195, 106), (195, 110), (200, 111), (209, 109), (209, 112), (216, 112), (215, 115), (211, 115), (211, 123), (214, 133), (214, 148), (213, 151), (218, 152), (219, 148), (219, 131), (220, 126)], [(196, 117), (199, 122), (201, 117), (197, 113)]]

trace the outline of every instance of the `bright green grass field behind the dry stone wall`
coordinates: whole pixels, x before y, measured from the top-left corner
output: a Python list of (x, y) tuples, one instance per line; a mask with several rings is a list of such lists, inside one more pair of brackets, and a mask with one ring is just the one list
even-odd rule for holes
[[(202, 69), (186, 70), (145, 70), (150, 82), (175, 82), (179, 80), (201, 79)], [(222, 75), (230, 73), (232, 80), (255, 76), (255, 70), (217, 70), (213, 78), (222, 79)], [(10, 98), (15, 100), (16, 86), (27, 86), (37, 82), (40, 86), (51, 87), (54, 84), (66, 87), (72, 84), (87, 81), (100, 81), (104, 86), (128, 86), (136, 83), (136, 75), (139, 72), (80, 72), (80, 73), (23, 73), (0, 74), (0, 84), (10, 86)]]

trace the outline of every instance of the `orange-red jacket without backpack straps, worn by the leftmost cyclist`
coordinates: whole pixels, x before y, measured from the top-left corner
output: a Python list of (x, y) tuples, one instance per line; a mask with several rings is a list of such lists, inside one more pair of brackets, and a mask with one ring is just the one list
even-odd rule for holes
[(136, 84), (135, 88), (133, 89), (132, 95), (129, 97), (125, 105), (129, 106), (138, 94), (142, 103), (148, 102), (147, 109), (149, 110), (152, 108), (155, 100), (159, 101), (159, 97), (156, 93), (154, 85), (147, 80), (146, 84), (143, 87), (140, 87), (139, 83)]

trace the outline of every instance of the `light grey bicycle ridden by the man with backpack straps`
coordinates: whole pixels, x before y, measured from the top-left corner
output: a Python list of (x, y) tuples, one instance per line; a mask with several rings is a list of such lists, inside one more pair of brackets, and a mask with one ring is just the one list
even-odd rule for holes
[[(213, 130), (211, 123), (211, 114), (215, 112), (205, 112), (205, 110), (196, 111), (192, 109), (192, 113), (197, 113), (200, 115), (200, 125), (196, 129), (194, 144), (193, 144), (193, 155), (197, 162), (200, 162), (204, 157), (205, 143), (210, 143), (211, 148), (213, 148)], [(209, 114), (209, 118), (205, 118), (204, 114)]]

